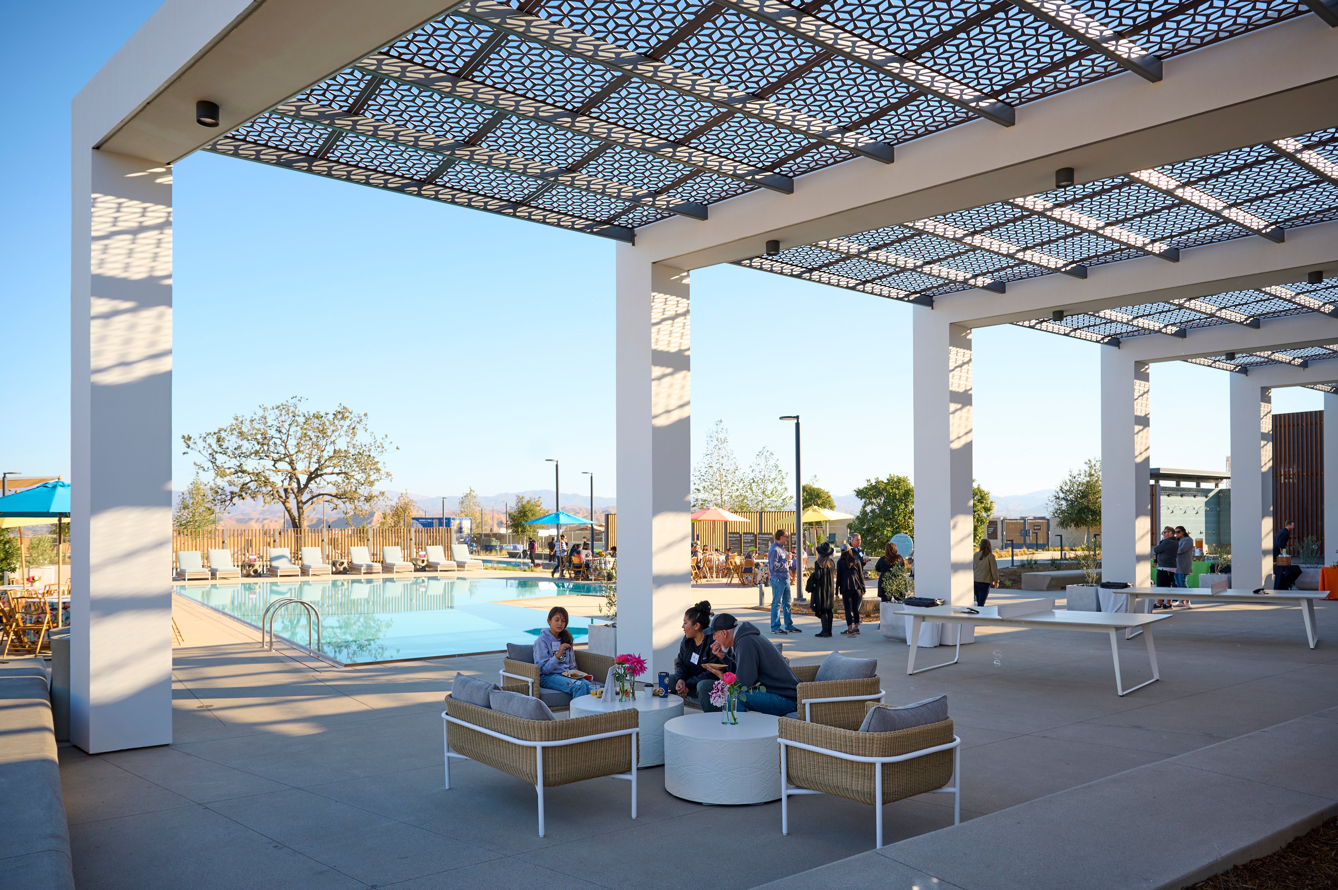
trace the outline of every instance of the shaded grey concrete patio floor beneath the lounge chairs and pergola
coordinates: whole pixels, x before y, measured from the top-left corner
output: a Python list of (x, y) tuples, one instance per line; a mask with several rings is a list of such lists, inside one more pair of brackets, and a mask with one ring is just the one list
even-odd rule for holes
[[(452, 790), (442, 787), (442, 696), (458, 673), (495, 679), (500, 656), (336, 669), (282, 645), (265, 652), (254, 632), (179, 597), (174, 614), (185, 637), (174, 743), (99, 756), (60, 748), (82, 890), (677, 889), (688, 861), (721, 890), (743, 890), (872, 847), (870, 807), (800, 798), (787, 838), (779, 803), (678, 800), (661, 767), (641, 772), (636, 822), (625, 783), (550, 790), (541, 839), (530, 786), (458, 762)], [(915, 677), (904, 644), (875, 630), (815, 640), (805, 617), (805, 633), (784, 640), (796, 664), (832, 645), (878, 657), (888, 701), (946, 693), (963, 740), (966, 820), (1338, 707), (1338, 604), (1317, 616), (1311, 650), (1291, 609), (1176, 610), (1157, 629), (1163, 680), (1124, 699), (1098, 634), (979, 629), (961, 664)], [(1131, 675), (1147, 671), (1141, 641), (1121, 649)], [(949, 824), (949, 795), (884, 810), (888, 843)]]

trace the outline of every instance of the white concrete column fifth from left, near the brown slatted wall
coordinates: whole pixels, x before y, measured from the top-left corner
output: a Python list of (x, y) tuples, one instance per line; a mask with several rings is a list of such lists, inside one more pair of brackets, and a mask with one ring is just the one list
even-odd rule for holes
[(1231, 586), (1272, 571), (1272, 389), (1231, 375)]

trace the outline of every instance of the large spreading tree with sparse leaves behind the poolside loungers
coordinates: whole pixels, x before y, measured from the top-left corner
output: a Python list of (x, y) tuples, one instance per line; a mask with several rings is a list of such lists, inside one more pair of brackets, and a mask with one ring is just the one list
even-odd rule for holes
[(345, 515), (380, 502), (384, 493), (376, 486), (391, 478), (381, 463), (389, 440), (368, 430), (365, 414), (344, 406), (308, 411), (302, 402), (293, 396), (261, 406), (226, 427), (181, 438), (185, 454), (201, 458), (195, 467), (214, 474), (215, 507), (240, 501), (280, 505), (294, 529), (305, 529), (308, 511), (322, 501)]

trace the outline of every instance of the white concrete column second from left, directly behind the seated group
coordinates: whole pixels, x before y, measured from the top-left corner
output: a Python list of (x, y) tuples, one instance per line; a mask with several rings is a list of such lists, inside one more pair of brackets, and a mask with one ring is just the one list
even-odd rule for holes
[(673, 671), (693, 602), (689, 281), (617, 252), (618, 652)]

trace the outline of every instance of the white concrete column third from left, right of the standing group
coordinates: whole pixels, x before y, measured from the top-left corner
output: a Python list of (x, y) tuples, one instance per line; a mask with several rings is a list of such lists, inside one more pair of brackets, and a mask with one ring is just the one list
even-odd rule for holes
[[(913, 310), (915, 593), (974, 602), (971, 329)], [(963, 640), (965, 642), (965, 640)]]

